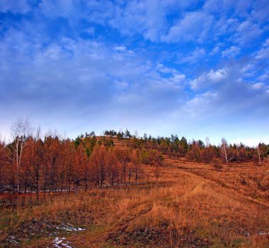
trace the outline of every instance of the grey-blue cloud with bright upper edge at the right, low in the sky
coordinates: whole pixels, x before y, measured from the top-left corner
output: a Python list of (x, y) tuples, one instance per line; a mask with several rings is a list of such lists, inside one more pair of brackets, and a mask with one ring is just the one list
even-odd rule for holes
[(244, 66), (229, 65), (217, 71), (211, 70), (191, 81), (193, 90), (205, 92), (190, 100), (193, 108), (196, 104), (199, 106), (198, 112), (202, 111), (210, 115), (214, 112), (212, 114), (214, 118), (217, 118), (218, 114), (221, 114), (220, 117), (229, 114), (231, 118), (237, 115), (243, 119), (253, 119), (254, 116), (263, 119), (261, 114), (268, 112), (269, 87), (265, 83), (249, 83), (241, 78), (244, 76), (241, 67)]

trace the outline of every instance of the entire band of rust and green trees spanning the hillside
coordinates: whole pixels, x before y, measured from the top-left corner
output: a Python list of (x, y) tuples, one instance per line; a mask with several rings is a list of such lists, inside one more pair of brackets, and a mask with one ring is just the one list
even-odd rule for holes
[(142, 165), (149, 165), (159, 179), (159, 167), (166, 158), (185, 158), (198, 163), (213, 163), (217, 169), (223, 164), (261, 164), (269, 155), (269, 145), (256, 147), (228, 144), (222, 138), (219, 146), (201, 140), (187, 141), (177, 135), (170, 137), (144, 134), (139, 137), (128, 129), (105, 130), (103, 136), (94, 131), (75, 139), (62, 138), (56, 132), (41, 136), (33, 131), (27, 120), (18, 120), (11, 128), (13, 141), (0, 141), (0, 193), (36, 194), (36, 199), (52, 192), (92, 187), (114, 187), (137, 184), (147, 179)]

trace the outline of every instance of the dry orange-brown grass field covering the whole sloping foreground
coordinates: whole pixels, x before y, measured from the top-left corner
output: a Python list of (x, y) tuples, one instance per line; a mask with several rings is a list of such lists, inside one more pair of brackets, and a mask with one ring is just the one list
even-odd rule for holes
[(158, 182), (2, 196), (0, 247), (269, 247), (269, 163), (166, 158)]

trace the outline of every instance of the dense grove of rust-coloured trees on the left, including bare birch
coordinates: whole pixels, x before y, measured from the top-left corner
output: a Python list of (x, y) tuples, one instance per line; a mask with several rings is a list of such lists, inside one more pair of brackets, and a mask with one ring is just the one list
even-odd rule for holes
[(94, 132), (76, 139), (57, 134), (41, 137), (27, 120), (11, 128), (13, 141), (0, 141), (0, 192), (85, 191), (90, 187), (113, 187), (137, 183), (144, 177), (142, 163), (159, 167), (162, 159), (154, 150), (116, 148), (108, 137)]

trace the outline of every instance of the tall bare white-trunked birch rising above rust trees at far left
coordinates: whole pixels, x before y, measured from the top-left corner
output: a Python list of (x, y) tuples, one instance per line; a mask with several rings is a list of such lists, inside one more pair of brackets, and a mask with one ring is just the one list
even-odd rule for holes
[(28, 119), (17, 119), (14, 122), (13, 126), (11, 126), (11, 136), (13, 137), (13, 159), (16, 164), (16, 172), (17, 172), (17, 189), (20, 194), (20, 169), (21, 169), (21, 157), (23, 155), (23, 148), (28, 138), (33, 133), (33, 127), (30, 125)]

